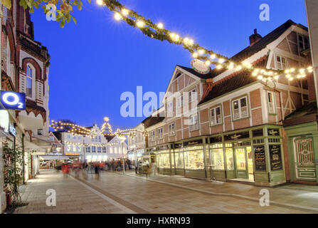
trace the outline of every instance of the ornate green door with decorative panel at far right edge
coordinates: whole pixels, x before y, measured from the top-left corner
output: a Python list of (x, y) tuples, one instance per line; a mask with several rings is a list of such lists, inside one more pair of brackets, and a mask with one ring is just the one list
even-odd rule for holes
[(293, 142), (296, 178), (316, 180), (314, 139), (312, 137), (297, 137), (293, 138)]

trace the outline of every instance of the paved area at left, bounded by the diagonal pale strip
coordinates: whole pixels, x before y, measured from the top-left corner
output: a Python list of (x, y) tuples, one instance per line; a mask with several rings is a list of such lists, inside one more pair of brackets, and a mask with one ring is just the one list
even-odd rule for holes
[[(56, 207), (46, 206), (46, 191), (56, 191)], [(63, 177), (56, 170), (41, 170), (41, 174), (21, 187), (22, 199), (27, 206), (18, 207), (16, 214), (78, 214), (78, 213), (129, 213), (122, 205), (112, 204), (95, 190), (83, 186), (73, 177)], [(117, 204), (115, 202), (115, 204)], [(120, 208), (122, 207), (122, 208)]]

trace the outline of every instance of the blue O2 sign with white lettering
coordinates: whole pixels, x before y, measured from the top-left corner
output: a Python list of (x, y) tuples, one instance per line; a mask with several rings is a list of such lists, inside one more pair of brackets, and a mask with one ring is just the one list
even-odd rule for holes
[(6, 109), (25, 110), (26, 93), (0, 90), (0, 102)]

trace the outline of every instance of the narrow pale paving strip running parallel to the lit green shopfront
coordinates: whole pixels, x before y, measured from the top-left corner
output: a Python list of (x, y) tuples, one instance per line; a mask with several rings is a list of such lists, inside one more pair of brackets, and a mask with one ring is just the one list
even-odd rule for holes
[[(256, 202), (260, 202), (259, 198), (247, 197), (247, 196), (244, 196), (244, 195), (237, 195), (237, 194), (232, 194), (232, 193), (218, 193), (218, 192), (211, 192), (211, 191), (206, 191), (206, 190), (199, 190), (199, 189), (194, 188), (194, 187), (186, 187), (186, 186), (183, 186), (183, 185), (176, 185), (174, 183), (164, 182), (164, 181), (161, 181), (161, 180), (153, 180), (153, 179), (150, 179), (148, 177), (140, 177), (140, 176), (137, 176), (137, 175), (129, 175), (129, 174), (125, 174), (125, 175), (127, 175), (129, 177), (135, 177), (135, 178), (139, 178), (139, 179), (143, 179), (143, 180), (148, 180), (148, 181), (151, 181), (151, 182), (161, 183), (163, 185), (170, 185), (170, 186), (173, 186), (173, 187), (179, 187), (179, 188), (183, 188), (183, 189), (186, 189), (186, 190), (192, 190), (192, 191), (195, 191), (195, 192), (201, 192), (201, 193), (208, 194), (208, 195), (220, 195), (220, 196), (226, 196), (226, 197), (236, 197), (236, 198), (240, 198), (240, 199), (249, 199), (249, 200), (253, 200), (253, 201), (256, 201)], [(291, 208), (291, 209), (301, 209), (301, 210), (304, 210), (304, 211), (307, 211), (307, 212), (308, 211), (309, 212), (318, 212), (318, 208), (315, 208), (315, 207), (305, 207), (305, 206), (296, 205), (296, 204), (287, 204), (287, 203), (282, 203), (282, 202), (275, 202), (275, 201), (272, 201), (272, 200), (270, 200), (270, 204), (278, 206), (278, 207), (286, 207), (286, 208)]]

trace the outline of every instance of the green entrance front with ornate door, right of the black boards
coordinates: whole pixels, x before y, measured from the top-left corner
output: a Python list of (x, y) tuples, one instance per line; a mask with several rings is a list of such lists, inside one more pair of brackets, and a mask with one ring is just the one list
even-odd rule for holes
[(285, 127), (292, 182), (318, 183), (318, 125), (316, 121)]

